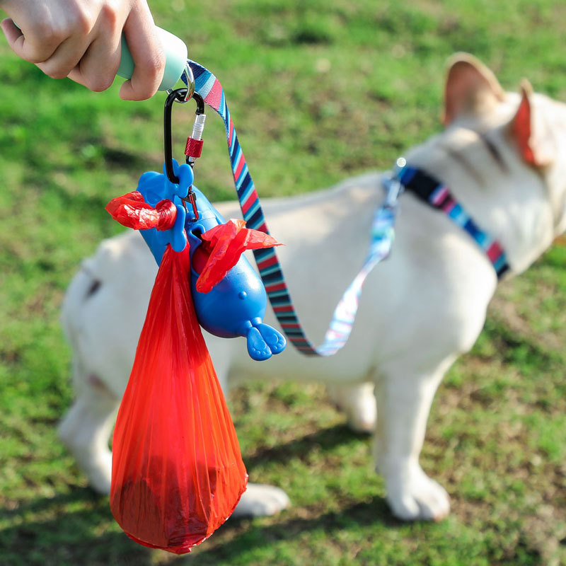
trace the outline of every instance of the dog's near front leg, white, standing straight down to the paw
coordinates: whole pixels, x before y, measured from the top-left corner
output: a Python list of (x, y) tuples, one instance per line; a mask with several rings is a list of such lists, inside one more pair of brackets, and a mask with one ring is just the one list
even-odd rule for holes
[(434, 393), (454, 359), (432, 371), (392, 364), (376, 380), (376, 469), (385, 478), (391, 511), (405, 521), (438, 521), (450, 511), (446, 490), (424, 473), (419, 455)]

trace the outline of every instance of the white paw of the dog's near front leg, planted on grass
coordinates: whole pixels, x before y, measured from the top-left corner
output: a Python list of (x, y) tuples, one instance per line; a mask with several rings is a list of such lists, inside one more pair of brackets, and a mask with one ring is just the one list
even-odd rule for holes
[[(405, 477), (403, 482), (401, 478)], [(450, 498), (444, 487), (419, 467), (387, 481), (387, 502), (391, 512), (403, 521), (441, 521), (450, 512)]]

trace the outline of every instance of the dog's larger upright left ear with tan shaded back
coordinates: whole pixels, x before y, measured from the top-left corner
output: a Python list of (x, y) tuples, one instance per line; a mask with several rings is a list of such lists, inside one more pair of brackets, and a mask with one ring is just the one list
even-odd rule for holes
[(473, 55), (456, 53), (449, 59), (444, 87), (444, 126), (459, 115), (485, 112), (504, 98), (495, 74)]

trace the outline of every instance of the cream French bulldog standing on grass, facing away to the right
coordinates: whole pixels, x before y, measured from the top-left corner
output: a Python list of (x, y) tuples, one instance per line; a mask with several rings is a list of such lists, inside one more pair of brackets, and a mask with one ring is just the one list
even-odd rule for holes
[[(526, 270), (566, 229), (566, 105), (533, 93), (506, 93), (469, 54), (449, 63), (444, 129), (408, 151), (504, 249), (512, 277)], [(271, 233), (301, 322), (320, 340), (330, 313), (366, 253), (383, 173), (329, 190), (268, 199)], [(238, 217), (235, 202), (217, 205)], [(59, 434), (92, 487), (110, 490), (108, 439), (144, 322), (156, 265), (135, 232), (103, 241), (83, 262), (64, 299), (62, 321), (74, 354), (76, 400)], [(376, 470), (387, 501), (404, 520), (438, 520), (449, 495), (422, 470), (419, 455), (429, 408), (455, 359), (483, 328), (497, 287), (492, 262), (446, 214), (405, 191), (393, 252), (366, 280), (350, 342), (333, 357), (304, 357), (292, 346), (252, 362), (242, 340), (207, 335), (225, 392), (241, 379), (323, 381), (352, 428), (374, 432)], [(274, 320), (267, 322), (275, 324)], [(250, 484), (236, 514), (274, 514), (282, 490)]]

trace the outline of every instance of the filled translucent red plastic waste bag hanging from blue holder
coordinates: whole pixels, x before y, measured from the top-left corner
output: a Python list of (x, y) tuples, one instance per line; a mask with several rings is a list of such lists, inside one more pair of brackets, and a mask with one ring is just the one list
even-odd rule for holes
[(188, 246), (168, 246), (118, 412), (110, 490), (130, 538), (178, 554), (226, 521), (248, 481), (188, 277)]

